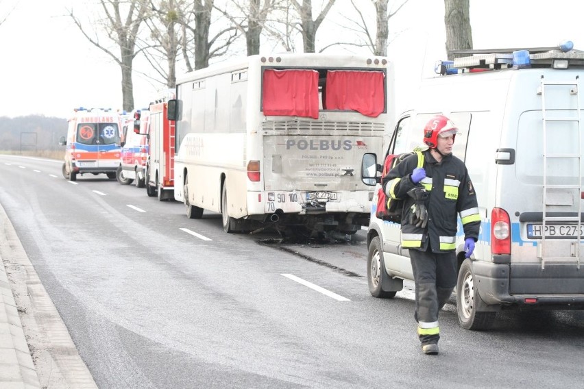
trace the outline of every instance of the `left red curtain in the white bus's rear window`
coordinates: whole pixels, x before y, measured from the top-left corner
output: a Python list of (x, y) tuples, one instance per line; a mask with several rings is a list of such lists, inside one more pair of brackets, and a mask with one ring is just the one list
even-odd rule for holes
[(318, 118), (318, 72), (266, 69), (262, 83), (265, 116)]

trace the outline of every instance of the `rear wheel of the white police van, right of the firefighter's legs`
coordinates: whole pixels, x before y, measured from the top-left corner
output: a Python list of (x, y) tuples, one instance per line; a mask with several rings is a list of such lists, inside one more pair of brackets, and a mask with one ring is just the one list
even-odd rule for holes
[(474, 286), (474, 274), (470, 260), (464, 260), (457, 281), (457, 312), (459, 323), (465, 329), (489, 329), (497, 312), (477, 312), (480, 297)]

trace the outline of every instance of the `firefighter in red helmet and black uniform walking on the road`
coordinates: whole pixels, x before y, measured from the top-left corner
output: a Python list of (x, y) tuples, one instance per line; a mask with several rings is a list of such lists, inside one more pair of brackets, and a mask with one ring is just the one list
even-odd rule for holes
[(465, 258), (474, 251), (480, 216), (467, 168), (452, 155), (459, 132), (436, 115), (424, 127), (424, 165), (413, 154), (389, 171), (383, 190), (404, 200), (402, 247), (409, 249), (415, 280), (417, 334), (424, 354), (438, 353), (438, 312), (457, 284), (457, 214), (465, 234)]

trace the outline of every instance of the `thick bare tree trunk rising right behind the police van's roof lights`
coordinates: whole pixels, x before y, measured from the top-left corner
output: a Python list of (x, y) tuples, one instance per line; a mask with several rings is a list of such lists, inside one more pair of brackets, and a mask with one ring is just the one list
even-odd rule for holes
[(444, 25), (449, 60), (463, 55), (454, 54), (453, 50), (472, 49), (469, 0), (444, 0)]

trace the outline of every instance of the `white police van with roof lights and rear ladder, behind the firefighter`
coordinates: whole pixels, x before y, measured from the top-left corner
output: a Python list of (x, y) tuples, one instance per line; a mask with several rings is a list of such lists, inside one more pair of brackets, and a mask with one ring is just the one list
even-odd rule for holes
[[(442, 75), (422, 81), (416, 105), (400, 116), (385, 147), (386, 153), (412, 151), (435, 114), (461, 130), (453, 152), (468, 168), (482, 218), (467, 260), (459, 221), (457, 310), (466, 329), (489, 328), (507, 308), (584, 308), (584, 53), (566, 51), (507, 51), (440, 64)], [(372, 184), (368, 172), (379, 172), (384, 157), (365, 155), (365, 184)], [(401, 247), (400, 225), (375, 215), (374, 206), (369, 291), (393, 297), (403, 279), (413, 280), (409, 251)]]

